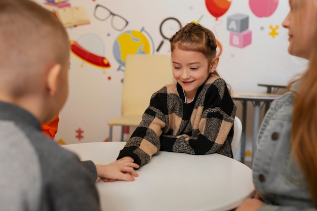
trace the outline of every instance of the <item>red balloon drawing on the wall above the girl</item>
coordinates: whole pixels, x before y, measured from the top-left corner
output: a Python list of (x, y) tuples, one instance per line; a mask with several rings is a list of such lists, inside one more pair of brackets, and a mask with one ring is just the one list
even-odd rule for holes
[(208, 12), (218, 20), (220, 16), (228, 11), (231, 0), (205, 0), (205, 3)]

